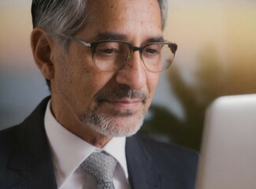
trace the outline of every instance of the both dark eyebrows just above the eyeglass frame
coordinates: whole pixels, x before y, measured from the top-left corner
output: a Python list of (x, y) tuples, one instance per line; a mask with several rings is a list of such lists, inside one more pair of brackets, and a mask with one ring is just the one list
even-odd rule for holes
[[(128, 41), (128, 36), (115, 32), (102, 32), (96, 35), (94, 41), (105, 41), (105, 40), (122, 40)], [(157, 37), (146, 39), (143, 43), (162, 43), (165, 42), (165, 39), (159, 35)]]

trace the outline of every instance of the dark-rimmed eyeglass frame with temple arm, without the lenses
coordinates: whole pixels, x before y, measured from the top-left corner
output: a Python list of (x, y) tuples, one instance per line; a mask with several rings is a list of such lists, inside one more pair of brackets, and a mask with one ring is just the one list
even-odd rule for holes
[[(135, 51), (139, 51), (139, 57), (140, 59), (143, 61), (143, 65), (145, 66), (145, 68), (150, 71), (150, 72), (163, 72), (165, 71), (166, 69), (169, 68), (169, 66), (173, 63), (173, 60), (174, 60), (174, 57), (175, 57), (175, 54), (176, 54), (176, 50), (178, 48), (177, 44), (176, 43), (171, 43), (167, 40), (164, 40), (163, 42), (156, 42), (156, 43), (147, 43), (146, 45), (143, 45), (143, 46), (132, 46), (131, 43), (128, 43), (128, 42), (125, 42), (125, 41), (121, 41), (121, 40), (102, 40), (102, 41), (95, 41), (95, 42), (92, 42), (92, 43), (87, 43), (85, 41), (83, 41), (82, 39), (79, 39), (77, 37), (74, 37), (72, 35), (62, 35), (63, 37), (65, 37), (66, 39), (72, 39), (74, 40), (76, 43), (79, 43), (80, 45), (82, 46), (86, 46), (86, 47), (89, 47), (91, 48), (91, 56), (92, 56), (92, 60), (94, 62), (94, 65), (95, 65), (95, 61), (94, 61), (94, 55), (95, 55), (95, 49), (97, 48), (97, 46), (101, 43), (124, 43), (128, 46), (130, 52), (128, 54), (128, 57), (127, 57), (127, 60), (124, 62), (124, 65), (131, 59), (132, 57), (132, 54), (133, 52)], [(150, 69), (147, 68), (147, 65), (146, 63), (144, 62), (143, 60), (143, 50), (147, 47), (147, 46), (150, 46), (150, 45), (154, 45), (154, 44), (163, 44), (163, 45), (169, 45), (169, 48), (170, 50), (172, 51), (173, 53), (173, 59), (172, 61), (169, 62), (169, 65), (165, 68), (165, 69), (162, 69), (160, 71), (152, 71)], [(120, 69), (122, 69), (124, 67), (124, 65), (122, 65), (119, 69), (117, 70), (114, 70), (114, 71), (107, 71), (107, 70), (102, 70), (102, 69), (99, 69), (97, 65), (96, 68), (103, 71), (103, 72), (116, 72)]]

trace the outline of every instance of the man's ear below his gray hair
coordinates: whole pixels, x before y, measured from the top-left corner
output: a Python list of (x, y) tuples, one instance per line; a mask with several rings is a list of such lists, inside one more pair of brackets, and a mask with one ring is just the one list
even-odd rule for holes
[(54, 78), (53, 40), (40, 28), (34, 28), (31, 34), (32, 53), (35, 63), (47, 80)]

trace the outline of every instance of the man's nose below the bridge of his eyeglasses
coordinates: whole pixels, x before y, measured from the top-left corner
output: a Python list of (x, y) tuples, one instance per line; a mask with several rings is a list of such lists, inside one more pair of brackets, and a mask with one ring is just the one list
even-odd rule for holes
[(141, 89), (146, 84), (146, 72), (139, 51), (132, 54), (130, 60), (117, 72), (117, 83), (126, 84), (132, 89)]

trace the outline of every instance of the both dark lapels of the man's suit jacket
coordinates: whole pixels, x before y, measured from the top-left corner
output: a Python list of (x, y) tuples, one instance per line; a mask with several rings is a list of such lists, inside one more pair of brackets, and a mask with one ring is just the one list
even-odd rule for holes
[[(22, 124), (9, 160), (9, 188), (56, 189), (54, 166), (44, 128), (46, 98)], [(152, 158), (144, 144), (132, 136), (126, 142), (128, 176), (132, 189), (160, 189), (160, 176), (151, 167)], [(6, 181), (8, 182), (8, 181)]]

